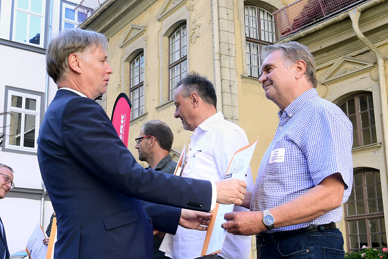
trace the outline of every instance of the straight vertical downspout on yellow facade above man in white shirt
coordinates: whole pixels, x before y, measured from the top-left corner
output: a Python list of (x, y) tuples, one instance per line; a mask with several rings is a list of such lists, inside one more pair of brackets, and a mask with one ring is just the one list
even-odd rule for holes
[(212, 0), (212, 21), (213, 21), (213, 66), (214, 82), (217, 95), (217, 111), (222, 112), (222, 90), (221, 90), (221, 62), (220, 62), (220, 35), (218, 28), (218, 0)]

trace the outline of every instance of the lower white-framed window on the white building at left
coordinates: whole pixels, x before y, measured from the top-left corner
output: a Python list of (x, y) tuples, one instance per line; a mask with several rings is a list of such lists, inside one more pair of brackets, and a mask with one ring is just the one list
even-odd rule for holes
[(40, 124), (40, 96), (8, 91), (5, 148), (36, 152)]

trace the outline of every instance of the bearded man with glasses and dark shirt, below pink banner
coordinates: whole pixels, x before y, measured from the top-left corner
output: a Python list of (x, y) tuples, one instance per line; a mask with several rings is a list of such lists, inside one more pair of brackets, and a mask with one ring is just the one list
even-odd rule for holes
[[(150, 120), (141, 126), (139, 136), (135, 139), (135, 148), (140, 161), (146, 161), (150, 168), (174, 174), (176, 162), (171, 159), (171, 151), (174, 135), (171, 128), (161, 120)], [(169, 258), (159, 250), (165, 233), (154, 230), (154, 259)]]

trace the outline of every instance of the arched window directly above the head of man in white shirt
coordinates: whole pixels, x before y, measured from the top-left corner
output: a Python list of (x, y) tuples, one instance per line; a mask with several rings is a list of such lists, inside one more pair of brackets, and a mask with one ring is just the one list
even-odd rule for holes
[(169, 37), (169, 100), (174, 98), (176, 83), (187, 74), (186, 24), (181, 24)]

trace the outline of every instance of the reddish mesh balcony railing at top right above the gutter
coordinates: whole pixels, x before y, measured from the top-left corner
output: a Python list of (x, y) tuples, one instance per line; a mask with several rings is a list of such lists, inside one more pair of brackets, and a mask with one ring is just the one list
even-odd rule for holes
[(284, 38), (368, 0), (298, 0), (273, 13)]

